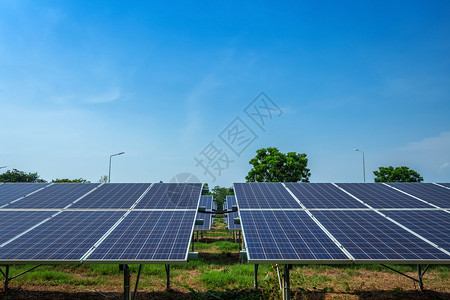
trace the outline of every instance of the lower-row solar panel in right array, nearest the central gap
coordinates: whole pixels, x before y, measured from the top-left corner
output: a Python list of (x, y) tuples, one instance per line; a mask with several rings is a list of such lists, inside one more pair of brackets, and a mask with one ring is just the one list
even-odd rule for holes
[(249, 262), (349, 260), (304, 211), (240, 211)]

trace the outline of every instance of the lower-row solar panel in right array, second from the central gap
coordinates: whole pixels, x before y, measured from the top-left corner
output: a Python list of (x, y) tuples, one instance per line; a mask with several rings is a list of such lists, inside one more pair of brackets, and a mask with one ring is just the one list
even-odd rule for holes
[(311, 213), (356, 261), (450, 259), (449, 255), (374, 211), (324, 210)]

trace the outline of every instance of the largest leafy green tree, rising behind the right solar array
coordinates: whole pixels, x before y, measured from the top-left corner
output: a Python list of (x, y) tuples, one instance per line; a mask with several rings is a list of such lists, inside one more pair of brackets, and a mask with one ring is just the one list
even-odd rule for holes
[(305, 153), (282, 153), (275, 147), (257, 150), (249, 164), (247, 182), (309, 182), (311, 176)]

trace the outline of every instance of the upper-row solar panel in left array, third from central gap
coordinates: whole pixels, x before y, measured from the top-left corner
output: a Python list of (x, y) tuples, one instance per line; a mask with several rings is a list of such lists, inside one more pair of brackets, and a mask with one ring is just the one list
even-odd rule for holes
[(5, 208), (64, 208), (98, 185), (98, 183), (55, 183)]

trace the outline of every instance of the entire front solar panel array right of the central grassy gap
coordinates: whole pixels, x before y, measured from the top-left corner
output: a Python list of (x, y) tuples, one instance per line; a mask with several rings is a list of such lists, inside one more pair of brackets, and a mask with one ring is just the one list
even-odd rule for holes
[(450, 263), (449, 192), (436, 184), (235, 184), (252, 263)]

